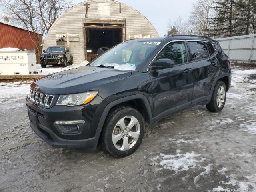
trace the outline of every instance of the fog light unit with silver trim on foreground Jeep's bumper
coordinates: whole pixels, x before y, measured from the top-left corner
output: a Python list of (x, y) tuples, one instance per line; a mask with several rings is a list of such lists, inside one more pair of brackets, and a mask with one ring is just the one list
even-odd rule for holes
[(78, 121), (56, 121), (56, 127), (63, 133), (80, 132), (84, 126), (84, 120)]

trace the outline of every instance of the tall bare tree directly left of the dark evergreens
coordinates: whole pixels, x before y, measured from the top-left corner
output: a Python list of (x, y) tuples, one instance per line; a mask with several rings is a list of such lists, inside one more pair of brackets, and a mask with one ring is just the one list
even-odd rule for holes
[(194, 34), (208, 36), (210, 18), (214, 16), (213, 0), (198, 0), (192, 3), (190, 24)]

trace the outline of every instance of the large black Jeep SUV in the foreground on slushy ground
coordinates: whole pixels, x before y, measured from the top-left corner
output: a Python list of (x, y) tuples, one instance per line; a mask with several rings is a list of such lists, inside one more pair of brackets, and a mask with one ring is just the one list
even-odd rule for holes
[(230, 88), (230, 60), (202, 36), (128, 40), (89, 66), (35, 80), (26, 97), (30, 125), (60, 148), (132, 154), (145, 125), (206, 105), (220, 112)]

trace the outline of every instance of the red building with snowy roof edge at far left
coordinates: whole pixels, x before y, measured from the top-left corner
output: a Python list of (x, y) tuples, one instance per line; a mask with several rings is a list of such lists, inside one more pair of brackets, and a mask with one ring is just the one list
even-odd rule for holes
[[(8, 21), (8, 19), (7, 19)], [(36, 37), (42, 44), (42, 35), (31, 32), (34, 42), (31, 40), (28, 31), (17, 26), (13, 26), (7, 21), (0, 21), (0, 48), (12, 47), (18, 49), (36, 50)]]

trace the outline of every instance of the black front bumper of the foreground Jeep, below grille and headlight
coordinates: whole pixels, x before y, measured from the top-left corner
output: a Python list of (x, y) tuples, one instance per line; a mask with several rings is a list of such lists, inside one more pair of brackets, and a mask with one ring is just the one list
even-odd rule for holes
[[(58, 148), (95, 150), (100, 132), (96, 132), (105, 101), (97, 96), (85, 106), (53, 106), (46, 109), (37, 106), (26, 98), (28, 116), (32, 130), (46, 143)], [(101, 107), (102, 106), (102, 107)], [(79, 132), (65, 133), (54, 122), (84, 120)]]

